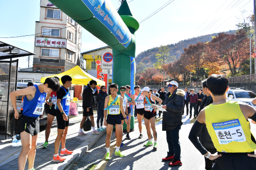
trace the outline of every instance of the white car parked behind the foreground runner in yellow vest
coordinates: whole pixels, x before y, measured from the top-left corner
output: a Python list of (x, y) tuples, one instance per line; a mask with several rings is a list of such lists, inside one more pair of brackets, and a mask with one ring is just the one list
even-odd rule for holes
[(256, 94), (252, 91), (247, 91), (242, 88), (229, 88), (226, 92), (226, 96), (227, 100), (244, 102), (256, 108), (256, 105), (252, 103), (253, 99), (256, 97)]

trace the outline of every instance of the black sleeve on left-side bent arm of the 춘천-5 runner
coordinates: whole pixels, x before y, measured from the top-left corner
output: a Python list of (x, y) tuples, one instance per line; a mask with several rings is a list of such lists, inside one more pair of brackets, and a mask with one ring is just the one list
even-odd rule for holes
[(204, 124), (200, 124), (197, 120), (195, 121), (194, 125), (192, 126), (190, 133), (189, 133), (189, 140), (193, 143), (196, 149), (199, 150), (199, 152), (204, 155), (207, 153), (207, 150), (203, 147), (203, 145), (200, 143), (200, 141), (197, 138), (197, 135), (203, 128)]

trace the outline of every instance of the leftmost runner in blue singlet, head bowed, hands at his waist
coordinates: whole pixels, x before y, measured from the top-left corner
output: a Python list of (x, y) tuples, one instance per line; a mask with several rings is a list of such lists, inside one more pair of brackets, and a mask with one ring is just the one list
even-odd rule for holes
[(19, 119), (19, 133), (21, 136), (22, 150), (18, 159), (19, 169), (24, 169), (26, 159), (29, 169), (34, 169), (35, 149), (39, 133), (39, 116), (44, 111), (46, 93), (60, 89), (60, 82), (56, 78), (47, 78), (43, 84), (19, 89), (11, 92), (10, 97), (14, 109), (15, 119), (19, 119), (16, 97), (26, 95), (24, 98), (23, 114)]

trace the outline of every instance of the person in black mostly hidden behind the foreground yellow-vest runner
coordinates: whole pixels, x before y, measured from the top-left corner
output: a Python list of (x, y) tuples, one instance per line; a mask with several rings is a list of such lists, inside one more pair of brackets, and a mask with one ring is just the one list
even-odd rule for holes
[[(199, 112), (206, 106), (210, 105), (211, 103), (213, 103), (212, 100), (212, 96), (210, 95), (210, 93), (207, 91), (207, 84), (206, 84), (206, 80), (204, 80), (202, 82), (202, 86), (203, 86), (203, 93), (206, 95), (206, 97), (203, 98), (202, 104), (200, 106)], [(209, 152), (211, 152), (212, 154), (216, 153), (217, 150), (213, 145), (212, 142), (212, 138), (209, 135), (206, 125), (203, 126), (202, 130), (200, 131), (200, 133), (198, 134), (199, 136), (199, 141), (201, 142), (201, 144), (203, 145), (203, 147), (205, 149), (207, 149)], [(210, 160), (208, 158), (205, 158), (205, 169), (210, 170), (212, 169), (213, 163), (215, 162), (215, 160)]]

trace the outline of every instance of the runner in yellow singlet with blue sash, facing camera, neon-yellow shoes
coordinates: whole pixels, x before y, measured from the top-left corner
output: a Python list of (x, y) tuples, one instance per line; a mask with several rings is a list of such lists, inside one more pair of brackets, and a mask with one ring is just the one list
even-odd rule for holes
[[(117, 95), (118, 92), (118, 85), (116, 83), (113, 83), (109, 86), (111, 95), (106, 97), (105, 99), (105, 108), (104, 108), (104, 126), (107, 126), (107, 138), (106, 138), (106, 160), (109, 160), (110, 153), (109, 153), (109, 147), (110, 147), (110, 139), (111, 139), (111, 133), (113, 130), (113, 126), (116, 128), (116, 151), (115, 155), (118, 155), (120, 157), (125, 157), (125, 155), (121, 154), (120, 152), (120, 145), (122, 142), (122, 122), (121, 122), (121, 115), (120, 110), (122, 111), (122, 116), (125, 118), (125, 122), (128, 125), (129, 122), (127, 121), (125, 117), (125, 111), (123, 105), (123, 99), (119, 95)], [(108, 117), (107, 117), (108, 114)], [(106, 120), (107, 118), (107, 120)]]

